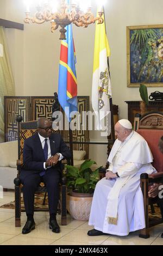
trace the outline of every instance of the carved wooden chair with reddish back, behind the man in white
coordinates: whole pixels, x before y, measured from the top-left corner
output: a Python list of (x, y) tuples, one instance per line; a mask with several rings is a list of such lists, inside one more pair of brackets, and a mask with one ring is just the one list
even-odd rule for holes
[[(143, 138), (146, 139), (149, 148), (153, 154), (153, 166), (157, 170), (157, 173), (148, 175), (143, 173), (140, 175), (140, 186), (143, 193), (143, 200), (145, 206), (145, 221), (146, 227), (140, 231), (139, 237), (148, 238), (149, 237), (149, 228), (154, 225), (162, 223), (162, 218), (154, 218), (149, 217), (149, 207), (148, 205), (152, 205), (153, 203), (159, 204), (160, 199), (156, 198), (148, 198), (148, 186), (155, 183), (161, 183), (163, 178), (163, 154), (160, 152), (158, 143), (159, 139), (163, 135), (163, 113), (161, 112), (148, 112), (144, 115), (138, 114), (134, 120), (134, 130), (138, 132)], [(162, 207), (161, 215), (163, 216)], [(154, 212), (154, 208), (152, 207), (152, 212)]]

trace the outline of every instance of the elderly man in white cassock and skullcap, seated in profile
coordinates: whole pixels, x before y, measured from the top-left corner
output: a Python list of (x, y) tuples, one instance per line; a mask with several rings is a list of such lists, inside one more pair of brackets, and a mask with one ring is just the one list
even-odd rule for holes
[(106, 176), (98, 181), (93, 194), (88, 235), (128, 235), (145, 228), (141, 173), (156, 172), (145, 139), (132, 130), (126, 119), (115, 125), (117, 139), (111, 149)]

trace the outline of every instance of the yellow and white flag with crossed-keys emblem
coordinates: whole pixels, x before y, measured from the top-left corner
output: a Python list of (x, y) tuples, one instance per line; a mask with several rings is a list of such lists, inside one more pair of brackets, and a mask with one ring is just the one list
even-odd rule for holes
[[(102, 15), (104, 19), (104, 14)], [(105, 31), (105, 20), (98, 25), (96, 21), (95, 50), (92, 79), (92, 107), (97, 117), (97, 130), (102, 130), (104, 117), (110, 112), (111, 82), (108, 69), (110, 47)]]

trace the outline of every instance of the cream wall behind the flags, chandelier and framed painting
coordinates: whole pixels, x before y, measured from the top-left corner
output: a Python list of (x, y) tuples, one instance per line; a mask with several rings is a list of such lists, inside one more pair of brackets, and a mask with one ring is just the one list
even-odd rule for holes
[[(94, 0), (95, 1), (95, 0)], [(93, 2), (93, 0), (92, 0)], [(105, 5), (106, 31), (111, 48), (112, 101), (120, 118), (127, 118), (126, 100), (140, 100), (139, 88), (127, 88), (126, 26), (162, 23), (162, 0), (108, 0)], [(96, 13), (96, 9), (93, 9)], [(1, 0), (0, 18), (23, 23), (22, 0)], [(59, 31), (51, 25), (24, 25), (24, 31), (5, 29), (8, 39), (16, 95), (53, 95), (58, 91), (60, 54)], [(78, 95), (91, 96), (95, 25), (73, 25), (77, 53)], [(158, 88), (148, 88), (148, 94)], [(162, 88), (159, 88), (162, 92)], [(99, 134), (91, 132), (91, 138)], [(106, 162), (106, 146), (91, 146), (90, 157)]]

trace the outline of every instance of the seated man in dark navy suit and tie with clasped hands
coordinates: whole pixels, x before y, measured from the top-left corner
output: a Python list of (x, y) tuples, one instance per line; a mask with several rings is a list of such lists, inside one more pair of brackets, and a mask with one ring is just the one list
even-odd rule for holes
[(40, 182), (45, 182), (48, 192), (49, 228), (59, 233), (56, 220), (59, 182), (61, 178), (60, 160), (70, 158), (71, 152), (59, 133), (52, 133), (52, 123), (46, 118), (37, 121), (37, 133), (24, 141), (23, 167), (20, 178), (23, 184), (23, 199), (27, 222), (22, 234), (35, 229), (34, 193)]

